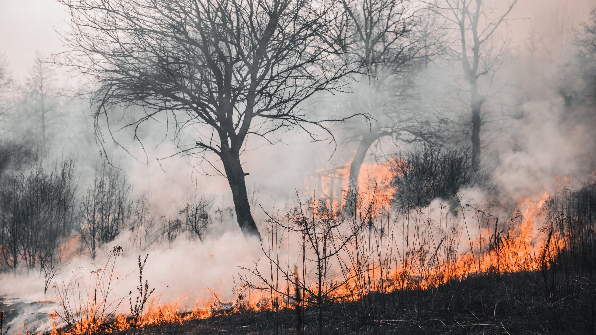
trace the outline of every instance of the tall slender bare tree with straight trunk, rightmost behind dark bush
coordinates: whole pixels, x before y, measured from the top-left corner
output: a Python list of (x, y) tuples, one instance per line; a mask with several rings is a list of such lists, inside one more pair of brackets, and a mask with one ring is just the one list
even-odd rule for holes
[[(487, 0), (439, 0), (430, 3), (432, 10), (447, 21), (446, 29), (454, 30), (459, 40), (448, 52), (461, 62), (469, 86), (469, 91), (465, 91), (470, 93), (470, 139), (472, 163), (476, 170), (480, 168), (480, 128), (487, 122), (486, 117), (483, 120), (482, 106), (503, 88), (503, 85), (494, 84), (496, 73), (504, 67), (507, 42), (499, 45), (495, 36), (516, 4), (517, 0), (495, 3), (495, 7), (504, 8), (499, 11)], [(481, 81), (481, 78), (484, 80)]]

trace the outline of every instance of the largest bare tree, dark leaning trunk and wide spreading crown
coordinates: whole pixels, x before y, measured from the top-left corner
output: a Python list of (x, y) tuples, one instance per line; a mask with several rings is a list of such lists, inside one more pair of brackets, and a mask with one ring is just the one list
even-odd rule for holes
[(144, 108), (126, 125), (135, 135), (158, 114), (175, 123), (176, 139), (194, 128), (179, 153), (197, 155), (228, 179), (241, 230), (259, 236), (240, 157), (251, 135), (272, 143), (278, 131), (299, 128), (322, 139), (315, 126), (331, 136), (300, 106), (316, 92), (342, 88), (353, 70), (336, 47), (336, 0), (60, 2), (72, 17), (62, 35), (70, 51), (60, 62), (94, 80), (98, 138), (99, 120), (113, 106)]

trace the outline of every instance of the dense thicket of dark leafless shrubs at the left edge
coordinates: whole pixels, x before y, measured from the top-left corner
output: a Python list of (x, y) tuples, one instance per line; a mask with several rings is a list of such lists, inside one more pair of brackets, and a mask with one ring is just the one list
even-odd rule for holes
[(66, 159), (53, 171), (38, 165), (1, 181), (0, 243), (9, 268), (39, 265), (49, 274), (60, 262), (61, 243), (75, 218), (74, 167), (74, 160)]

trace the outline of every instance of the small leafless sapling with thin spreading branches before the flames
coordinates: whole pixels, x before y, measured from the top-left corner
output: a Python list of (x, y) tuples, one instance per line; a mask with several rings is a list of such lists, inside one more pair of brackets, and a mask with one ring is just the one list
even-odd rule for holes
[[(349, 201), (348, 199), (346, 202)], [(363, 208), (360, 208), (361, 212), (356, 213), (356, 210), (353, 210), (348, 218), (344, 218), (333, 213), (333, 210), (327, 206), (327, 201), (322, 199), (316, 201), (315, 198), (312, 198), (308, 204), (303, 204), (298, 199), (298, 206), (293, 212), (288, 213), (285, 218), (267, 215), (267, 220), (274, 229), (281, 228), (286, 232), (294, 232), (299, 236), (299, 240), (302, 240), (303, 279), (300, 280), (298, 277), (298, 271), (291, 270), (289, 263), (283, 263), (279, 255), (280, 250), (266, 250), (266, 247), (262, 244), (263, 252), (271, 266), (271, 276), (263, 274), (256, 264), (253, 269), (243, 269), (257, 278), (260, 285), (253, 284), (246, 275), (241, 277), (241, 280), (248, 286), (270, 291), (285, 299), (293, 299), (293, 297), (288, 288), (285, 290), (280, 289), (280, 286), (276, 283), (279, 280), (277, 277), (285, 278), (288, 283), (293, 283), (305, 294), (308, 294), (311, 303), (317, 307), (319, 334), (322, 334), (323, 309), (328, 303), (343, 299), (345, 296), (337, 293), (337, 290), (359, 275), (359, 272), (352, 272), (356, 269), (347, 268), (346, 276), (338, 279), (330, 274), (330, 269), (334, 259), (339, 258), (339, 254), (345, 251), (347, 245), (364, 227), (365, 222), (371, 215), (371, 204), (372, 202), (362, 206)], [(355, 209), (356, 206), (359, 207), (359, 204), (352, 203), (349, 206)], [(285, 243), (290, 243), (289, 238), (288, 235), (288, 240)], [(269, 248), (273, 247), (274, 245), (269, 246)], [(289, 262), (289, 259), (286, 262)], [(277, 277), (273, 274), (274, 271), (278, 273)], [(312, 281), (306, 279), (308, 274), (314, 274)]]

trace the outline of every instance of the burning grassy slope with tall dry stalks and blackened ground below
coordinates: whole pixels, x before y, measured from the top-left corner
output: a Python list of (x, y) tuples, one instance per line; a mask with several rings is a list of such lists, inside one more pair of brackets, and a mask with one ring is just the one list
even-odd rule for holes
[(493, 207), (496, 215), (461, 197), (415, 206), (395, 187), (360, 185), (341, 202), (298, 200), (287, 213), (268, 213), (264, 258), (240, 269), (231, 302), (215, 291), (191, 307), (187, 297), (153, 296), (151, 278), (143, 280), (147, 256), (138, 258), (136, 299), (132, 290), (111, 297), (114, 248), (89, 281), (75, 276), (58, 287), (52, 333), (596, 330), (596, 182), (523, 198), (513, 213)]

